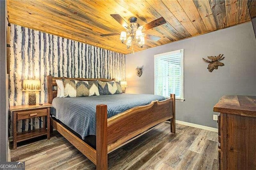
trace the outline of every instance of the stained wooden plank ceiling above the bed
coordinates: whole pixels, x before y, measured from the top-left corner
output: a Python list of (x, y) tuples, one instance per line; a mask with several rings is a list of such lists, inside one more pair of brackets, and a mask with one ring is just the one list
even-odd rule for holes
[(124, 28), (110, 16), (120, 14), (124, 20), (132, 16), (144, 25), (161, 16), (166, 24), (144, 33), (161, 37), (146, 40), (143, 48), (163, 45), (199, 34), (250, 21), (247, 0), (8, 0), (11, 23), (42, 32), (84, 42), (120, 53), (132, 48), (120, 42)]

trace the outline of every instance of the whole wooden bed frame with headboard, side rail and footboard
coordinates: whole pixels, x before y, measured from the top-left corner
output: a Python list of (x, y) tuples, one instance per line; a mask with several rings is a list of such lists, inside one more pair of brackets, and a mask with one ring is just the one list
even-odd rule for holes
[[(57, 96), (56, 80), (62, 77), (47, 76), (48, 103)], [(113, 81), (114, 79), (66, 78), (82, 81)], [(149, 105), (134, 107), (107, 118), (107, 105), (96, 106), (96, 150), (51, 118), (51, 125), (82, 154), (90, 159), (97, 170), (108, 168), (108, 153), (138, 138), (152, 127), (164, 121), (171, 121), (170, 130), (175, 133), (175, 94), (164, 101), (152, 101)]]

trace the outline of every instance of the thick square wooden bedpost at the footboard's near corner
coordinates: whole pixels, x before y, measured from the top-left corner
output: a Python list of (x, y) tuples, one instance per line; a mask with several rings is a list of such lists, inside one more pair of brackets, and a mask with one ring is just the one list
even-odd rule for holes
[(96, 106), (96, 168), (108, 169), (107, 105)]

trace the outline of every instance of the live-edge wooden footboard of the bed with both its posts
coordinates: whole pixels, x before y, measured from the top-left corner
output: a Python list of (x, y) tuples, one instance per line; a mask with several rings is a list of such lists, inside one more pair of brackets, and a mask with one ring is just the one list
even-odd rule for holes
[(106, 169), (109, 152), (159, 123), (171, 119), (170, 129), (175, 133), (175, 95), (172, 94), (170, 99), (164, 101), (152, 101), (149, 105), (134, 107), (109, 119), (106, 117), (107, 106), (97, 105), (97, 169), (98, 160), (101, 160), (99, 169)]

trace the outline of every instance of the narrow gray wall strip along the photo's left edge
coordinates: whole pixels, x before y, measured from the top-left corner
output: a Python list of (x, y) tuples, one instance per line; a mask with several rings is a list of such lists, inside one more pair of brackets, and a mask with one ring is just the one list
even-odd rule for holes
[(0, 0), (0, 161), (7, 160), (6, 6)]

